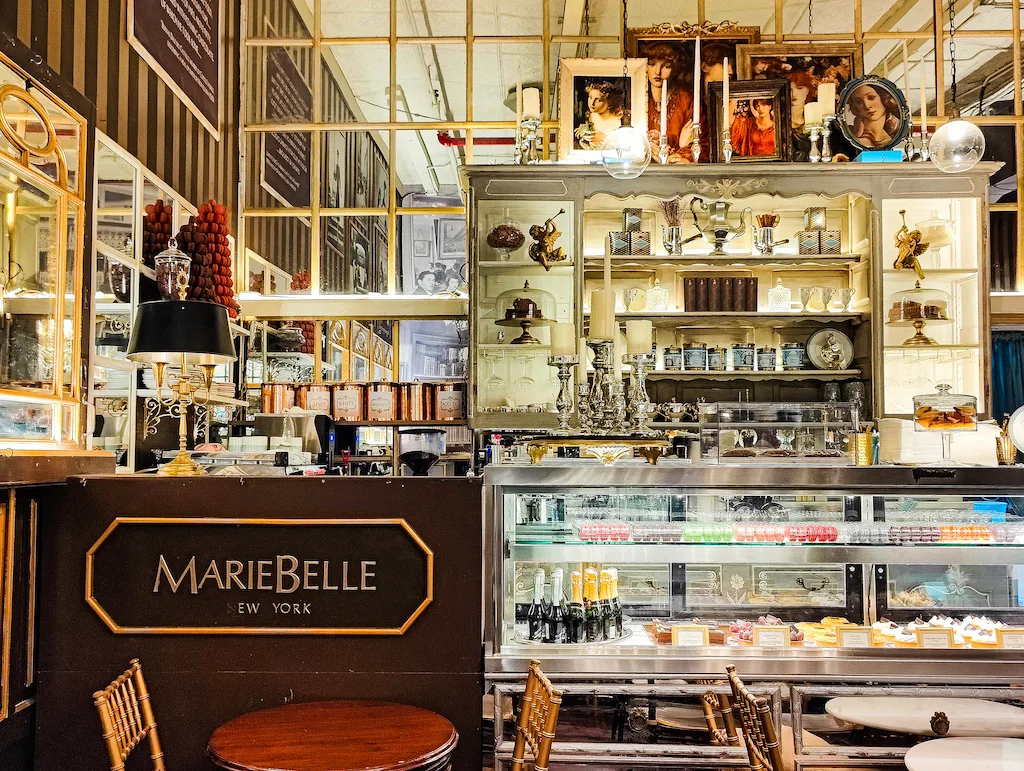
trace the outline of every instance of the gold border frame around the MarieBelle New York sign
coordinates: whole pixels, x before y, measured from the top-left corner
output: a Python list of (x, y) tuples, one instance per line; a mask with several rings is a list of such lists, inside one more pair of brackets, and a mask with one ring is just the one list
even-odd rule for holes
[[(427, 596), (413, 614), (401, 627), (367, 629), (329, 627), (319, 629), (303, 629), (298, 627), (122, 627), (93, 597), (93, 569), (95, 555), (99, 547), (122, 524), (230, 524), (230, 525), (398, 525), (427, 556)], [(401, 518), (373, 519), (283, 519), (283, 518), (252, 518), (252, 517), (117, 517), (85, 553), (85, 601), (98, 615), (108, 629), (116, 635), (360, 635), (360, 636), (391, 636), (404, 635), (413, 623), (422, 615), (427, 605), (434, 599), (434, 553), (424, 543), (420, 534)]]

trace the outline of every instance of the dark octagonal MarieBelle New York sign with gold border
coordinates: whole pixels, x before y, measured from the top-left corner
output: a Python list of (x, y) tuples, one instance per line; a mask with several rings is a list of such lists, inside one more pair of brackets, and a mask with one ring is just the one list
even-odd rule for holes
[(403, 519), (119, 517), (86, 594), (118, 634), (401, 635), (433, 552)]

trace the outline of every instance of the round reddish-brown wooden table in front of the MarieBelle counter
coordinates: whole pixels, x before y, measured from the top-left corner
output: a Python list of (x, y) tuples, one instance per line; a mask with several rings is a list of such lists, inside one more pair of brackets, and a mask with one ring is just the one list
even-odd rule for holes
[(232, 771), (439, 771), (459, 734), (440, 715), (388, 701), (311, 701), (249, 713), (210, 737)]

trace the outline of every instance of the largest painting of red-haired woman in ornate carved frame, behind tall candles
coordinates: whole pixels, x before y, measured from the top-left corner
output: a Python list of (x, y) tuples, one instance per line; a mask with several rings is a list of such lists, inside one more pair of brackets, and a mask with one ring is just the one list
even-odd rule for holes
[[(697, 57), (700, 39), (700, 61)], [(738, 46), (758, 43), (758, 27), (741, 27), (733, 22), (700, 25), (662, 24), (626, 31), (626, 50), (630, 56), (647, 60), (647, 78), (643, 101), (648, 115), (647, 136), (654, 157), (662, 138), (662, 98), (666, 99), (665, 133), (669, 139), (669, 163), (693, 163), (694, 102), (700, 99), (699, 147), (700, 161), (707, 162), (711, 149), (710, 111), (707, 110), (711, 83), (721, 82), (725, 60), (729, 60), (729, 78), (736, 76)], [(699, 83), (695, 83), (695, 71)]]

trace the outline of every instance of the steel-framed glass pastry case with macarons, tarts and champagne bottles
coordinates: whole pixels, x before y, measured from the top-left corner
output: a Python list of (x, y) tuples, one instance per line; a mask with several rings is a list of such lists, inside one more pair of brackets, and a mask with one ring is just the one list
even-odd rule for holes
[[(866, 640), (872, 660), (858, 672), (881, 674), (920, 647), (919, 629), (952, 630), (957, 654), (991, 653), (997, 634), (1024, 633), (1024, 474), (969, 471), (488, 468), (498, 598), (486, 617), (488, 669), (541, 658), (555, 671), (683, 673), (709, 666), (694, 659), (784, 647), (806, 656), (787, 659), (794, 672), (836, 674), (854, 653), (847, 648)], [(564, 645), (531, 639), (539, 571), (544, 607), (571, 608), (571, 582), (552, 597), (550, 576), (588, 569), (611, 575), (609, 612), (617, 600), (623, 632), (573, 639), (570, 631)], [(698, 628), (710, 632), (702, 643), (688, 636)], [(846, 641), (858, 629), (866, 638)]]

